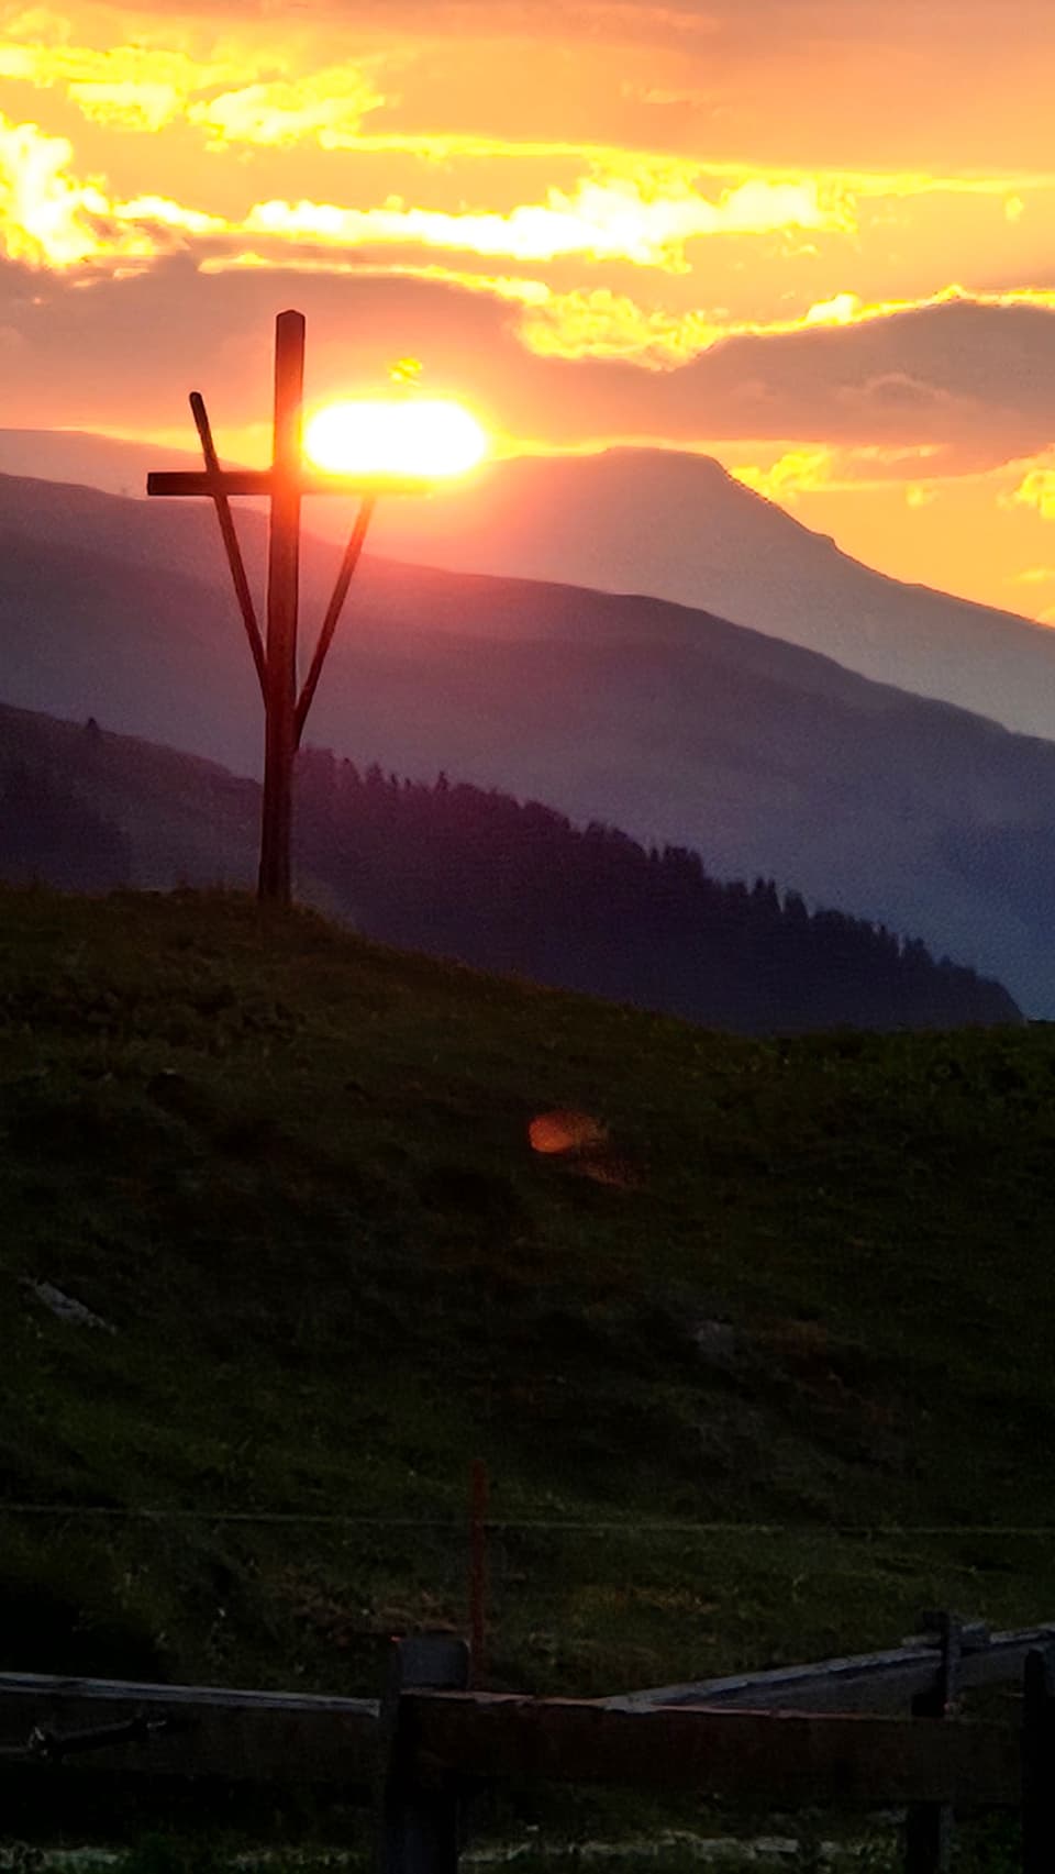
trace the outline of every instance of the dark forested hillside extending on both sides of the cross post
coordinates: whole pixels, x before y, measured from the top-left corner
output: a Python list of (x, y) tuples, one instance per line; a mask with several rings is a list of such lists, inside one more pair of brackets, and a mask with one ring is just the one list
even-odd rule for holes
[[(0, 877), (253, 881), (253, 781), (96, 723), (0, 710)], [(999, 984), (918, 939), (446, 776), (410, 783), (305, 751), (298, 868), (302, 896), (384, 943), (738, 1033), (1018, 1019)]]

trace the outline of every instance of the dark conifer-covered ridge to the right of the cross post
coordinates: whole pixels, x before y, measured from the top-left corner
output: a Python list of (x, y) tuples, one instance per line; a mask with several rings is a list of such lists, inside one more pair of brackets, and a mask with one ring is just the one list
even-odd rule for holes
[(958, 1027), (1018, 1018), (1010, 995), (772, 879), (712, 879), (680, 845), (575, 828), (495, 789), (399, 780), (309, 750), (302, 866), (382, 943), (585, 989), (748, 1034)]

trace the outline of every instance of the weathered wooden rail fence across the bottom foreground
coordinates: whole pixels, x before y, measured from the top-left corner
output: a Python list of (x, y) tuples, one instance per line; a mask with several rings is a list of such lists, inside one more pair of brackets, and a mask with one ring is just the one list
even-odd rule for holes
[[(1018, 1808), (1023, 1874), (1055, 1870), (1055, 1627), (952, 1619), (888, 1653), (605, 1700), (470, 1690), (468, 1647), (394, 1643), (384, 1698), (0, 1673), (0, 1769), (219, 1777), (341, 1792), (377, 1812), (382, 1874), (455, 1874), (472, 1790), (680, 1790), (766, 1808), (907, 1810), (905, 1868), (943, 1874), (958, 1812)], [(958, 1715), (1021, 1679), (1021, 1722)]]

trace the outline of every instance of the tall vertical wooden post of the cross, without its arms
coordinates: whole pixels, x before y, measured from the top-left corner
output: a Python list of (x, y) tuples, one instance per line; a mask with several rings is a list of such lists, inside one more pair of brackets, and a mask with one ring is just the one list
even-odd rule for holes
[(264, 808), (259, 883), (260, 901), (275, 905), (289, 905), (290, 900), (304, 324), (304, 313), (279, 313), (275, 320), (275, 452), (268, 543)]

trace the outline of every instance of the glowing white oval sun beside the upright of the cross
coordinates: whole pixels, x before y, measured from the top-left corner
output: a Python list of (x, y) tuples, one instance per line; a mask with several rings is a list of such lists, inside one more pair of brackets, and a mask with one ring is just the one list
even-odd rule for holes
[(307, 425), (305, 454), (326, 474), (452, 476), (474, 468), (487, 437), (459, 403), (332, 403)]

